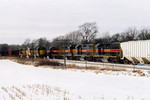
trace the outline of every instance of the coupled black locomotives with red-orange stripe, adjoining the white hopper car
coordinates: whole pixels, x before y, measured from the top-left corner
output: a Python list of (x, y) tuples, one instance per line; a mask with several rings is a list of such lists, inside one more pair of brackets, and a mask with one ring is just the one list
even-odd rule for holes
[(70, 60), (89, 60), (101, 62), (120, 62), (120, 43), (83, 44), (68, 47), (50, 47), (49, 58)]

